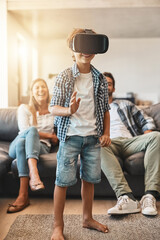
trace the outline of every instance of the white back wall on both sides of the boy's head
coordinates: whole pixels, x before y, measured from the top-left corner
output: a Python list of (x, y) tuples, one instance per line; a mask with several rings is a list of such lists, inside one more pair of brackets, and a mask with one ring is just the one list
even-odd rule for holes
[[(45, 79), (73, 63), (64, 39), (43, 40), (39, 49), (39, 75)], [(134, 92), (138, 99), (160, 101), (160, 38), (110, 39), (109, 51), (97, 55), (93, 64), (113, 73), (118, 96)]]

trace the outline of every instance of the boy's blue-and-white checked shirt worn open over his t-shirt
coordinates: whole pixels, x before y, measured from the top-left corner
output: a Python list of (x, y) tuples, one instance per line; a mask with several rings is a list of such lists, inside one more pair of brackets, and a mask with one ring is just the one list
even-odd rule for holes
[[(108, 104), (108, 84), (105, 77), (91, 65), (91, 73), (94, 87), (94, 102), (97, 135), (103, 134), (103, 119), (104, 113), (109, 111)], [(68, 68), (61, 72), (56, 79), (53, 89), (53, 97), (50, 106), (59, 105), (62, 107), (69, 107), (71, 95), (74, 90), (74, 82), (76, 77), (80, 75), (77, 64), (72, 68)], [(55, 117), (55, 126), (57, 126), (57, 136), (60, 141), (65, 142), (66, 134), (70, 123), (70, 117), (57, 116)]]

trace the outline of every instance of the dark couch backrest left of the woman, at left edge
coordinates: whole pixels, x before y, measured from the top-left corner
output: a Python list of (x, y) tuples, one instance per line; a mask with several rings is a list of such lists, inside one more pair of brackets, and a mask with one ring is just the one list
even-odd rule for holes
[(0, 140), (12, 141), (18, 131), (17, 108), (0, 108)]

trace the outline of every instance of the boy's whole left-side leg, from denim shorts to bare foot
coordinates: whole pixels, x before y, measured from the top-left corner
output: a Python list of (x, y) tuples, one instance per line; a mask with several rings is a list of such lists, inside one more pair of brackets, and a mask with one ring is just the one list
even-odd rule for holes
[(66, 190), (77, 182), (76, 170), (78, 154), (81, 149), (81, 137), (73, 136), (60, 142), (57, 153), (56, 181), (54, 189), (54, 230), (51, 240), (64, 240), (63, 211)]

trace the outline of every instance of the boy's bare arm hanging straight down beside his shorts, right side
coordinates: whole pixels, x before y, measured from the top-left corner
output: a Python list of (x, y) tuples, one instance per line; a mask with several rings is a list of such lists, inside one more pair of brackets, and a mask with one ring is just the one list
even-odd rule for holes
[(107, 147), (111, 144), (110, 139), (110, 114), (109, 111), (104, 113), (104, 121), (103, 121), (103, 135), (100, 137), (101, 147)]

